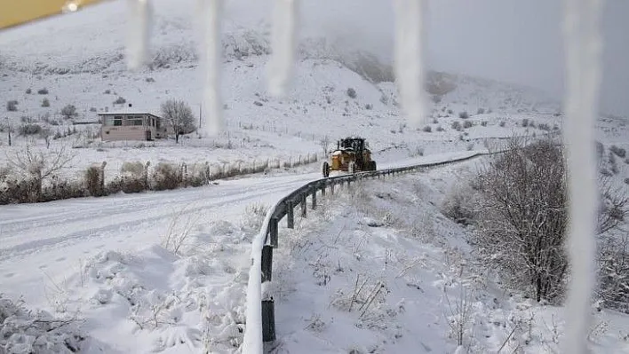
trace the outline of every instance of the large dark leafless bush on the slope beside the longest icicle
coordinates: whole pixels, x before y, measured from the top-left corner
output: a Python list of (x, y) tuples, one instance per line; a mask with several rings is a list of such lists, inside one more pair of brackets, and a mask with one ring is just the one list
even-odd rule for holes
[[(480, 171), (474, 248), (511, 286), (537, 301), (558, 301), (568, 275), (567, 169), (563, 147), (545, 139), (513, 138), (508, 150)], [(601, 190), (599, 232), (625, 218), (626, 199)]]

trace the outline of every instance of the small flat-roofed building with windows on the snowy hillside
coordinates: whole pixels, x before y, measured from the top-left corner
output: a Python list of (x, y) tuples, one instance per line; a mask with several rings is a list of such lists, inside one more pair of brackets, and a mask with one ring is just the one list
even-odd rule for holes
[(103, 141), (154, 140), (167, 138), (167, 124), (163, 118), (146, 112), (100, 113), (100, 138)]

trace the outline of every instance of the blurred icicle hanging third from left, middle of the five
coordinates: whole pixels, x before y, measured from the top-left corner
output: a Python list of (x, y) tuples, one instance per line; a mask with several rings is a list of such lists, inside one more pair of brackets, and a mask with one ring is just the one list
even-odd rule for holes
[(298, 0), (275, 0), (273, 5), (273, 54), (268, 63), (268, 90), (274, 96), (286, 93), (291, 81), (297, 46)]

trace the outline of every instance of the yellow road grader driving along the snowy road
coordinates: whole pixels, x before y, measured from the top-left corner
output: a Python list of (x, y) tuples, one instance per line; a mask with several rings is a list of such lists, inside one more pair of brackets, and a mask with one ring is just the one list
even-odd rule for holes
[(323, 161), (323, 177), (330, 177), (331, 171), (355, 173), (375, 171), (376, 161), (371, 160), (371, 151), (364, 138), (349, 137), (338, 140), (336, 150), (330, 153), (330, 162)]

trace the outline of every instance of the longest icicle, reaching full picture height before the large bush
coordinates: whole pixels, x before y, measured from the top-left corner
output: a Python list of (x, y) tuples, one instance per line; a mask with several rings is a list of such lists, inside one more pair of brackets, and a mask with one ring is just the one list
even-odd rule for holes
[(597, 191), (594, 123), (601, 83), (602, 0), (564, 0), (569, 168), (568, 243), (572, 274), (566, 303), (565, 353), (585, 353), (594, 286)]

